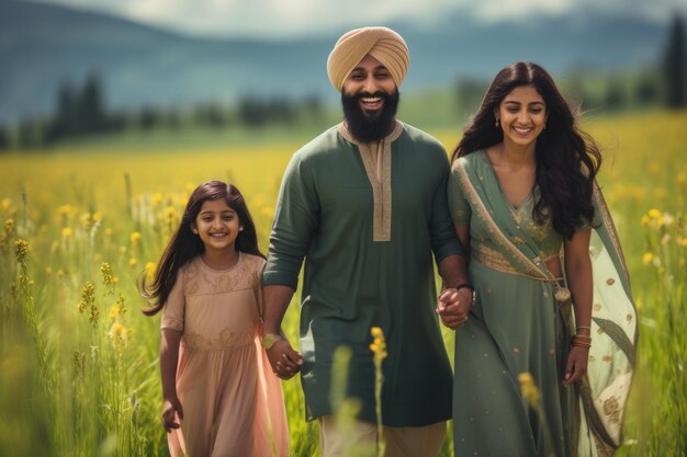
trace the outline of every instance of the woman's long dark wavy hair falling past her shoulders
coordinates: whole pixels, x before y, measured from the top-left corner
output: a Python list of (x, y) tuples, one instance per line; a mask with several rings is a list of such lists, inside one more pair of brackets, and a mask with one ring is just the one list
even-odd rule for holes
[(494, 112), (510, 91), (522, 85), (537, 90), (548, 114), (547, 128), (537, 138), (540, 198), (532, 216), (539, 224), (550, 217), (553, 228), (571, 239), (585, 220), (594, 218), (594, 180), (601, 155), (594, 139), (577, 127), (578, 113), (573, 113), (551, 76), (539, 65), (519, 61), (496, 75), (451, 161), (503, 141), (504, 133), (495, 126)]

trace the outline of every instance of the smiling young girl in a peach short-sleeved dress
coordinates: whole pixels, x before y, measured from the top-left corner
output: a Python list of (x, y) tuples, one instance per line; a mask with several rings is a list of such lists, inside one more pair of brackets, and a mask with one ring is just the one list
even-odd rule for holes
[(172, 457), (288, 456), (280, 380), (259, 330), (264, 255), (243, 195), (201, 184), (144, 297), (162, 311), (162, 425)]

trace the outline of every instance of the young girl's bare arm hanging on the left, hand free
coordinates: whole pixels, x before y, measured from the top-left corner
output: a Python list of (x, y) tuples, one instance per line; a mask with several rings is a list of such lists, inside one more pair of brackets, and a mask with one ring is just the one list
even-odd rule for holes
[(179, 342), (181, 331), (162, 329), (162, 340), (160, 341), (160, 375), (162, 377), (162, 426), (167, 433), (181, 425), (176, 421), (174, 413), (179, 420), (183, 419), (181, 402), (177, 397), (177, 364), (179, 363)]

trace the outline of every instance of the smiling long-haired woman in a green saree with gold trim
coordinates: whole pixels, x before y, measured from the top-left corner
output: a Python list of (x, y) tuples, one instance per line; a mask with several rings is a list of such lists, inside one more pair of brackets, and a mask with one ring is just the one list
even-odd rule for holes
[(595, 183), (601, 158), (575, 121), (547, 71), (517, 62), (453, 152), (449, 202), (475, 293), (455, 332), (457, 456), (621, 444), (637, 319)]

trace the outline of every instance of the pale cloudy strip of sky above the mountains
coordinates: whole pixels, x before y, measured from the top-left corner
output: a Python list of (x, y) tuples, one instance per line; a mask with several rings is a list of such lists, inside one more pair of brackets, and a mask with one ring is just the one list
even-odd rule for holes
[(685, 0), (40, 0), (101, 11), (202, 36), (293, 37), (407, 20), (431, 24), (448, 11), (503, 21), (579, 9), (632, 12), (664, 22)]

